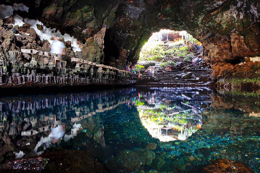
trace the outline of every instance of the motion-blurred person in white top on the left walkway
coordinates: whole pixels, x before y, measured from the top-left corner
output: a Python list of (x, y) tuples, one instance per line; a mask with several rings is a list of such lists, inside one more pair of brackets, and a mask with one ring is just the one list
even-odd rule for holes
[(61, 56), (65, 55), (65, 46), (57, 37), (52, 37), (52, 40), (54, 41), (50, 45), (50, 52), (58, 54), (57, 57), (53, 57), (53, 64), (55, 65), (56, 60), (61, 60)]

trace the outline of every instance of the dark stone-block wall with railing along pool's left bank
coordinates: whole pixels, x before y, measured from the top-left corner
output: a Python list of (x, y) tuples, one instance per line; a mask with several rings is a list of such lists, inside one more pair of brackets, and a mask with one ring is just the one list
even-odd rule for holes
[[(71, 85), (129, 85), (136, 84), (138, 75), (118, 68), (72, 58), (76, 67), (66, 68), (67, 61), (56, 59), (56, 54), (21, 49), (31, 54), (30, 63), (0, 61), (0, 87), (71, 86)], [(90, 67), (89, 67), (90, 65)]]

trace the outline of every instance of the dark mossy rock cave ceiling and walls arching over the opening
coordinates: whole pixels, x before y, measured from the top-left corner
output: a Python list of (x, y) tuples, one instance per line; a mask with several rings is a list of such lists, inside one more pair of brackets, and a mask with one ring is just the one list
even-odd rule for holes
[[(24, 17), (37, 18), (48, 27), (73, 35), (86, 49), (89, 39), (105, 27), (104, 55), (102, 46), (91, 49), (96, 47), (100, 62), (119, 68), (135, 63), (142, 45), (160, 29), (191, 33), (203, 44), (203, 58), (213, 67), (260, 56), (258, 0), (8, 0), (3, 4), (14, 2), (29, 7)], [(215, 68), (213, 76), (218, 75)]]

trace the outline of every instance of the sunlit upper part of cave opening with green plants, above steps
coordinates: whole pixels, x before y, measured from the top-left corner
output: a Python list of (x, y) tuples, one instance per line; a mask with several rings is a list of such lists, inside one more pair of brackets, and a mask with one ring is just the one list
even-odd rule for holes
[(167, 63), (168, 57), (176, 56), (191, 60), (200, 51), (202, 44), (188, 32), (161, 29), (142, 46), (137, 64), (142, 63), (140, 61)]

